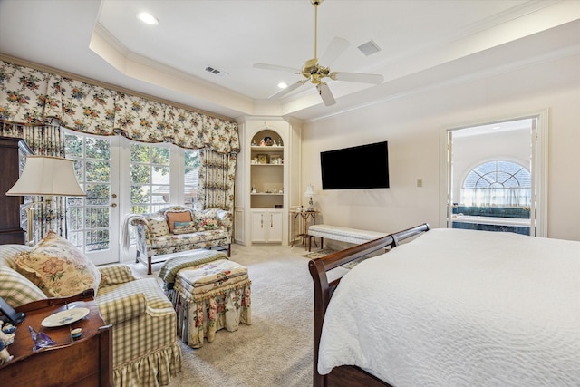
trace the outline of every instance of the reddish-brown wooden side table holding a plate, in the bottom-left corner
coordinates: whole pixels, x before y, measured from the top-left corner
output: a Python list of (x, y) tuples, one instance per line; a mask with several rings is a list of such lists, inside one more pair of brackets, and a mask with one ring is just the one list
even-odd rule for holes
[[(14, 359), (0, 365), (0, 381), (6, 386), (112, 386), (112, 325), (105, 325), (93, 292), (66, 298), (48, 298), (22, 305), (17, 312), (26, 318), (16, 326), (14, 343), (8, 352)], [(44, 318), (66, 308), (84, 307), (89, 314), (73, 324), (55, 328), (41, 325)], [(48, 334), (56, 345), (34, 351), (28, 331)], [(82, 328), (78, 339), (71, 330)]]

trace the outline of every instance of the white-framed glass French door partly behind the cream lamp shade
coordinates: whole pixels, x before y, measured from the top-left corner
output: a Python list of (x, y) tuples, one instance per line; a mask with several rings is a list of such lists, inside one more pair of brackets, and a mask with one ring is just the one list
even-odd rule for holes
[(119, 136), (66, 131), (65, 154), (84, 198), (67, 198), (67, 237), (95, 265), (120, 261)]

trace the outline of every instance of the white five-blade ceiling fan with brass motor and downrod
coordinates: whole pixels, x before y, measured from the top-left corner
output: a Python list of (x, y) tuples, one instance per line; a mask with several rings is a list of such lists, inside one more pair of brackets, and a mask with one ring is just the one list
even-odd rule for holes
[[(330, 67), (324, 67), (318, 63), (318, 5), (321, 5), (323, 1), (324, 0), (310, 0), (310, 3), (314, 5), (314, 58), (304, 62), (302, 69), (279, 66), (277, 64), (254, 63), (256, 69), (284, 71), (304, 76), (303, 80), (291, 84), (280, 92), (276, 92), (269, 97), (270, 99), (281, 98), (289, 92), (295, 91), (297, 88), (304, 85), (304, 83), (311, 82), (316, 85), (316, 89), (318, 90), (320, 97), (323, 99), (324, 105), (331, 106), (336, 103), (336, 101), (334, 100), (333, 93), (330, 91), (328, 84), (324, 82), (324, 78), (330, 78), (335, 81), (373, 84), (382, 83), (382, 75), (380, 74), (331, 72)], [(349, 45), (350, 44), (346, 39), (335, 37), (333, 42), (331, 42), (326, 49), (326, 52), (323, 55), (323, 61), (325, 63), (332, 63), (335, 59), (338, 59)]]

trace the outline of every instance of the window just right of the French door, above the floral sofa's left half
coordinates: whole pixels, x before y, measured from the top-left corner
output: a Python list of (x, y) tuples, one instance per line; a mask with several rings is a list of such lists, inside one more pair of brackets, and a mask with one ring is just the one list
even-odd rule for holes
[(169, 146), (131, 144), (131, 212), (144, 214), (169, 205)]

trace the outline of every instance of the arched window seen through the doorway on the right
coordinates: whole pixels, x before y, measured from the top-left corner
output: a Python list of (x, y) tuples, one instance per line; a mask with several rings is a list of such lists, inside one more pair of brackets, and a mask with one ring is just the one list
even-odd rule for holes
[(529, 207), (531, 204), (529, 170), (506, 160), (488, 161), (471, 169), (461, 187), (465, 206)]

